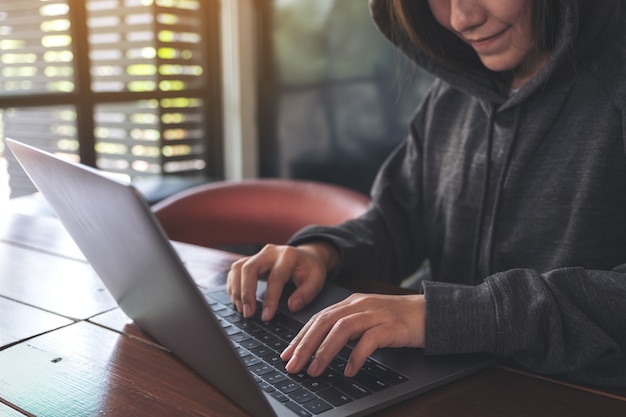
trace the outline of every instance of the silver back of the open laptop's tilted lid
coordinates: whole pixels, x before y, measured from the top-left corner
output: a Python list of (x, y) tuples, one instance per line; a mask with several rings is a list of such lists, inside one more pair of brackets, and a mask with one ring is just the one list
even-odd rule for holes
[(274, 416), (139, 192), (6, 143), (126, 315), (248, 412)]

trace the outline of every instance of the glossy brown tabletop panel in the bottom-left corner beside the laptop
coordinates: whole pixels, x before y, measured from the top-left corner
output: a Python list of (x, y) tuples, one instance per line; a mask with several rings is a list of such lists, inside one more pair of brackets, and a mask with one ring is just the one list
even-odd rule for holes
[(80, 322), (0, 352), (0, 395), (36, 416), (245, 416), (171, 354)]

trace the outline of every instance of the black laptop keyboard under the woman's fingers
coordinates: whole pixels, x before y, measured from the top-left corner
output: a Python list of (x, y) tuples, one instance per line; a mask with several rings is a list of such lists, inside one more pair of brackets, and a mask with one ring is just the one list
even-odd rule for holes
[[(226, 334), (239, 352), (261, 389), (302, 417), (321, 414), (354, 400), (405, 382), (408, 378), (370, 358), (353, 378), (343, 375), (351, 348), (346, 346), (326, 371), (312, 378), (305, 371), (289, 374), (280, 354), (302, 325), (276, 313), (263, 322), (260, 313), (246, 319), (238, 313), (224, 292), (205, 294)], [(257, 302), (257, 312), (261, 311)]]

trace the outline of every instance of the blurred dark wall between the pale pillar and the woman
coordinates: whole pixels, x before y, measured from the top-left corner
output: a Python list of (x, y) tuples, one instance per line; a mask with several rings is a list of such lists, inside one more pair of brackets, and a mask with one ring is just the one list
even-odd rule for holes
[(363, 0), (269, 0), (262, 11), (261, 175), (368, 192), (431, 78)]

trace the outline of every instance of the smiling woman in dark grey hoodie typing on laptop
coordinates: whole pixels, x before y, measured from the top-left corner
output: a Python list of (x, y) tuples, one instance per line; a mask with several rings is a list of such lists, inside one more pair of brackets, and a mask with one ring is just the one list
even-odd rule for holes
[(490, 352), (546, 374), (626, 386), (626, 4), (622, 0), (370, 0), (381, 31), (437, 77), (372, 189), (371, 209), (236, 262), (245, 316), (269, 273), (302, 308), (327, 279), (401, 280), (423, 294), (354, 295), (283, 352), (319, 375), (359, 339)]

